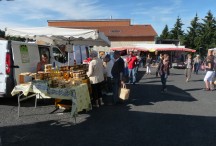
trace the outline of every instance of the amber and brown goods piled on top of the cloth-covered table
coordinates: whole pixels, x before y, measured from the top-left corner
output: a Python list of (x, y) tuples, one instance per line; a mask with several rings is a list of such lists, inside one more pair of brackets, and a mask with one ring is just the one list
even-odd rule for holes
[(46, 81), (50, 88), (70, 88), (77, 86), (83, 82), (89, 82), (86, 72), (88, 71), (88, 65), (75, 65), (75, 66), (62, 66), (52, 68), (51, 64), (45, 65), (45, 71), (39, 71), (38, 73), (25, 72), (22, 73), (19, 78), (24, 82), (23, 76), (30, 76), (35, 81)]

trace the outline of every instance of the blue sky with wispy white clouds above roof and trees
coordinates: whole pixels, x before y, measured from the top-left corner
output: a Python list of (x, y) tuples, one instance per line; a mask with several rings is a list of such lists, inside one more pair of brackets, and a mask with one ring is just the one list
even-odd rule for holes
[[(183, 30), (196, 13), (216, 16), (216, 0), (14, 0), (0, 1), (0, 29), (47, 26), (47, 20), (131, 19), (151, 24), (158, 35), (165, 25), (174, 27), (179, 16)], [(202, 21), (202, 20), (200, 20)]]

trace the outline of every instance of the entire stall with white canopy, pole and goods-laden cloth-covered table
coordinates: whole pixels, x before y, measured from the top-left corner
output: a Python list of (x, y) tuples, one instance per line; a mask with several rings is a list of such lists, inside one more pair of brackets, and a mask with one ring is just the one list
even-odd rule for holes
[[(70, 45), (71, 47), (69, 48), (71, 49), (73, 49), (73, 45), (110, 46), (108, 38), (102, 32), (95, 29), (57, 27), (7, 28), (5, 35), (33, 39), (36, 40), (36, 42), (42, 40), (46, 42), (47, 45)], [(27, 99), (28, 94), (25, 93), (30, 92), (35, 93), (37, 97), (69, 99), (72, 100), (72, 115), (83, 109), (89, 109), (89, 107), (91, 107), (89, 96), (91, 88), (86, 76), (88, 66), (70, 66), (69, 62), (72, 60), (70, 58), (70, 51), (73, 52), (73, 50), (68, 50), (67, 66), (57, 66), (58, 68), (53, 68), (54, 66), (52, 64), (47, 64), (43, 72), (22, 72), (19, 75), (19, 84), (12, 91), (12, 95), (21, 93), (18, 97), (19, 102), (21, 101), (20, 98), (23, 98), (23, 100)], [(29, 77), (32, 77), (33, 81), (26, 84), (25, 78)], [(37, 85), (40, 83), (39, 85), (43, 86), (43, 88), (36, 86), (36, 83)], [(64, 94), (68, 95), (64, 96)], [(85, 103), (85, 106), (83, 106), (82, 103)], [(18, 104), (20, 105), (20, 103)]]

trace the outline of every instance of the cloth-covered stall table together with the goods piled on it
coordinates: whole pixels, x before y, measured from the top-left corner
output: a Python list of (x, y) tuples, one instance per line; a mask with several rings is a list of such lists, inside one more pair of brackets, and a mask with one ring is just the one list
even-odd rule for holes
[[(20, 84), (15, 86), (11, 92), (12, 95), (19, 94), (18, 116), (20, 102), (33, 97), (32, 95), (28, 96), (29, 93), (36, 95), (35, 107), (37, 98), (43, 97), (71, 100), (72, 116), (84, 109), (90, 110), (90, 84), (86, 76), (87, 67), (87, 65), (65, 66), (57, 70), (47, 64), (44, 72), (20, 74)], [(23, 78), (26, 77), (32, 77), (32, 82), (24, 82)]]

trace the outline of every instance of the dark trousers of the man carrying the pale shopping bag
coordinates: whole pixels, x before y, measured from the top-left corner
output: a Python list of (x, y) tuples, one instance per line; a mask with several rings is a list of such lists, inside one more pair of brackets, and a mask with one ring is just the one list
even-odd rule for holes
[(113, 78), (113, 102), (116, 104), (119, 101), (120, 79)]

